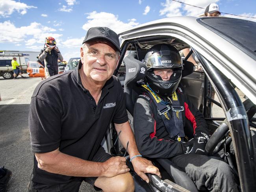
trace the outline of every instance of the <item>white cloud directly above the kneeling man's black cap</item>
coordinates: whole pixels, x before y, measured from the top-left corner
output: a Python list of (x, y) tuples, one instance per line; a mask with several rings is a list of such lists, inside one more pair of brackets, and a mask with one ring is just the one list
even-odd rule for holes
[(83, 25), (85, 31), (89, 30), (91, 27), (104, 26), (108, 27), (116, 33), (121, 32), (122, 30), (137, 26), (139, 23), (135, 22), (135, 19), (129, 20), (128, 23), (124, 23), (121, 20), (118, 20), (118, 15), (112, 13), (100, 12), (97, 13), (93, 11), (87, 13), (88, 21)]

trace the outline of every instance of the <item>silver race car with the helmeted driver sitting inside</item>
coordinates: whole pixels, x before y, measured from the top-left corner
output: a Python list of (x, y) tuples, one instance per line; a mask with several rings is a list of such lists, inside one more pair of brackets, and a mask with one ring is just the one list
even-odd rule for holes
[[(232, 140), (235, 158), (229, 165), (239, 178), (243, 192), (256, 191), (255, 31), (256, 22), (227, 17), (171, 17), (148, 22), (119, 33), (122, 52), (114, 73), (124, 78), (126, 109), (133, 126), (134, 101), (140, 91), (139, 83), (147, 73), (143, 63), (147, 50), (160, 43), (171, 44), (180, 53), (189, 48), (184, 59), (195, 54), (202, 70), (194, 71), (195, 68), (184, 64), (186, 76), (181, 82), (209, 126), (211, 137), (205, 153), (213, 155)], [(175, 165), (168, 164), (168, 159), (151, 159), (160, 168), (162, 178), (148, 174), (150, 183), (142, 181), (132, 171), (126, 146), (116, 142), (118, 134), (114, 127), (111, 123), (102, 146), (114, 156), (126, 154), (135, 191), (177, 192), (195, 187), (187, 185), (191, 183), (190, 178)]]

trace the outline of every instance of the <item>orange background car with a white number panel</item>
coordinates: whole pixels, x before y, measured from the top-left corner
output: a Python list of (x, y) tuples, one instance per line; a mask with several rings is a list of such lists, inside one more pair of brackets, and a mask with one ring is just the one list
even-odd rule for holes
[(37, 61), (29, 61), (27, 73), (30, 78), (44, 78), (45, 67)]

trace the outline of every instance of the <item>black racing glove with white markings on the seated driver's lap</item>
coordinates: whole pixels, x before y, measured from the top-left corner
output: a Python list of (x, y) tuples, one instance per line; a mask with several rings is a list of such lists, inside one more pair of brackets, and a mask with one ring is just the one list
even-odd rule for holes
[(204, 155), (205, 145), (208, 140), (209, 137), (206, 133), (196, 133), (194, 138), (183, 143), (183, 146), (185, 147), (184, 153)]

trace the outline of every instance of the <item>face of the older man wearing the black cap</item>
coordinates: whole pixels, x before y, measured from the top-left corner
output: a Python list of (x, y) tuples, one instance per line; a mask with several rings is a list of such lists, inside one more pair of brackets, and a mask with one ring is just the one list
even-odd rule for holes
[(96, 82), (106, 82), (117, 68), (120, 56), (107, 43), (90, 42), (81, 48), (83, 72)]

